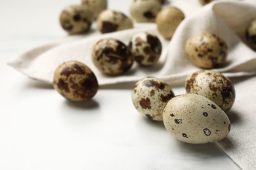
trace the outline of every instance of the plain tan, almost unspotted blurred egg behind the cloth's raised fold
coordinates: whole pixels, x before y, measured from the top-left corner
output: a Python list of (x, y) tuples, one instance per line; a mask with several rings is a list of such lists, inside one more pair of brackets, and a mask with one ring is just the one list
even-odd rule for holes
[(156, 16), (158, 31), (165, 39), (171, 39), (184, 18), (182, 10), (171, 6), (163, 7)]

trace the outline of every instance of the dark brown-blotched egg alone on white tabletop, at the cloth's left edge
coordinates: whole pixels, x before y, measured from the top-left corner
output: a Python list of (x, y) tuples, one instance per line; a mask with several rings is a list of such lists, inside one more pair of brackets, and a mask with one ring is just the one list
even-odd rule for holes
[(66, 61), (54, 72), (53, 87), (68, 100), (85, 101), (98, 91), (98, 80), (87, 65)]

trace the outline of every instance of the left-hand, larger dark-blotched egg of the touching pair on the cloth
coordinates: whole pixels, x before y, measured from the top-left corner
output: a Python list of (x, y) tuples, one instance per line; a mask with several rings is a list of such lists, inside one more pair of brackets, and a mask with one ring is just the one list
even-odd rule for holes
[(133, 56), (123, 42), (107, 38), (93, 46), (93, 63), (106, 75), (119, 75), (128, 71), (133, 65)]

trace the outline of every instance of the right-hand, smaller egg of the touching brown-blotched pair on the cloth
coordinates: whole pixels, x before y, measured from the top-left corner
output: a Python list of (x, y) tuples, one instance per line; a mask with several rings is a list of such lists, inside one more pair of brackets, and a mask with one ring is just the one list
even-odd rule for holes
[(161, 56), (161, 42), (155, 35), (137, 33), (131, 37), (129, 48), (140, 65), (154, 65)]

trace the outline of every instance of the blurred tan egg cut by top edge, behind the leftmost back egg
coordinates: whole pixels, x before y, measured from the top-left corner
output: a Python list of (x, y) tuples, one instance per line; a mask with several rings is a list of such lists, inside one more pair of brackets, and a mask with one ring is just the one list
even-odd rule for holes
[(85, 5), (89, 9), (93, 10), (95, 18), (108, 7), (107, 0), (81, 0), (82, 5)]

